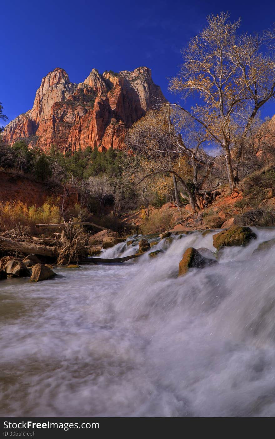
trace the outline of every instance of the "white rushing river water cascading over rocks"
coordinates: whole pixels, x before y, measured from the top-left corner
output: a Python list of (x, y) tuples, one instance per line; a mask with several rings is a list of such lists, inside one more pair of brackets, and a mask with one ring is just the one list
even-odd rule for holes
[(212, 233), (162, 240), (154, 259), (1, 281), (0, 415), (274, 416), (274, 248), (252, 253), (275, 229), (253, 229), (183, 277), (184, 250), (214, 251)]

